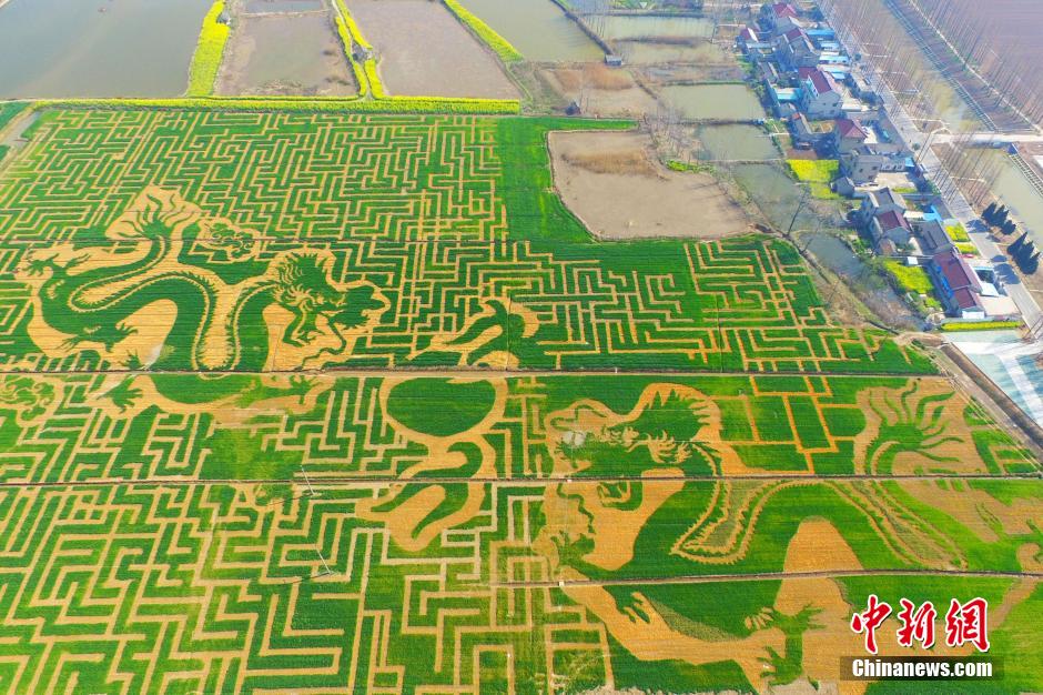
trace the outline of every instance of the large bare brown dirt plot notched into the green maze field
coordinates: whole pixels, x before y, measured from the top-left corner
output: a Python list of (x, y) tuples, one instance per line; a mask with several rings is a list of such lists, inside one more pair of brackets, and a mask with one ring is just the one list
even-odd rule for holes
[[(550, 134), (555, 187), (565, 204), (602, 239), (682, 236), (719, 239), (749, 231), (742, 209), (710, 174), (670, 171), (660, 165), (651, 141), (640, 132), (558, 132)], [(654, 175), (600, 173), (589, 162), (598, 153), (646, 153)], [(579, 162), (579, 164), (575, 163)]]

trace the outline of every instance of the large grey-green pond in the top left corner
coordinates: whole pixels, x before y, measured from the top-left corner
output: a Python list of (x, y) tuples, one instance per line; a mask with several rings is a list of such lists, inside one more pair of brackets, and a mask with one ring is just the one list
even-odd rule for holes
[(10, 0), (0, 7), (0, 98), (176, 97), (210, 7)]

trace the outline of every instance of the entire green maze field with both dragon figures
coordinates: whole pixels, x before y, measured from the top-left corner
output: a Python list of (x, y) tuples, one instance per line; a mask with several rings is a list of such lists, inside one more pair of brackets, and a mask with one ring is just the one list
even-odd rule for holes
[(1037, 462), (782, 242), (590, 241), (545, 134), (620, 125), (45, 111), (0, 692), (880, 692), (870, 594), (985, 597), (1040, 689)]

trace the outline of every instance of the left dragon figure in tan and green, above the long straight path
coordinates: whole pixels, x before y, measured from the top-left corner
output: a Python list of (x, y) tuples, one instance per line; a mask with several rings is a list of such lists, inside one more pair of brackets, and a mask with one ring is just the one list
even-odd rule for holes
[(332, 280), (327, 253), (262, 260), (255, 232), (169, 191), (145, 191), (105, 236), (20, 271), (34, 295), (30, 336), (51, 356), (95, 350), (135, 369), (203, 372), (321, 366), (388, 308), (368, 283)]

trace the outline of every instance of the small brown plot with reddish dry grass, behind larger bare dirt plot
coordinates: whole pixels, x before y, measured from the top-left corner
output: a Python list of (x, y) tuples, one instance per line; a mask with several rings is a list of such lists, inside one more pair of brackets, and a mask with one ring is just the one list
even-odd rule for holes
[(550, 69), (544, 75), (565, 101), (579, 103), (585, 115), (638, 117), (658, 110), (655, 98), (624, 70), (588, 66)]

